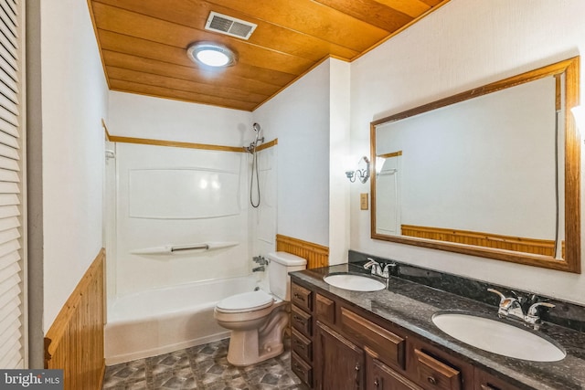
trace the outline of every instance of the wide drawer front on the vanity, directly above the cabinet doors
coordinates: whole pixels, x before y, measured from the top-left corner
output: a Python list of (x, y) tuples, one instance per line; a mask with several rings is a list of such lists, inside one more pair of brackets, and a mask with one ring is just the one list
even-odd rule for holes
[(378, 353), (384, 364), (404, 370), (406, 343), (402, 337), (344, 307), (340, 322), (343, 332)]

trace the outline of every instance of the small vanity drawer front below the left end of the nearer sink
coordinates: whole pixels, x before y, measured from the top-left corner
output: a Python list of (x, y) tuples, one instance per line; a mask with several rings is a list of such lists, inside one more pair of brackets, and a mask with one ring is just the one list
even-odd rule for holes
[(414, 350), (414, 364), (420, 385), (427, 389), (460, 390), (461, 372), (430, 354)]

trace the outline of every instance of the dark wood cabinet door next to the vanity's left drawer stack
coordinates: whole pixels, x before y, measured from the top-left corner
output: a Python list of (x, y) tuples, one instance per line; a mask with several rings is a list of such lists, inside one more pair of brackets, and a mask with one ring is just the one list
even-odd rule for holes
[(315, 332), (318, 390), (362, 390), (364, 351), (321, 322)]

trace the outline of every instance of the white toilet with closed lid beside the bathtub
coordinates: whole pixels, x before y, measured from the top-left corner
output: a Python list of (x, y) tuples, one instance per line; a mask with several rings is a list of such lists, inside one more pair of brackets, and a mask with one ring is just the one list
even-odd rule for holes
[(228, 362), (244, 366), (282, 353), (282, 337), (289, 322), (289, 272), (306, 268), (306, 259), (286, 252), (267, 256), (270, 291), (256, 290), (220, 300), (214, 316), (231, 331)]

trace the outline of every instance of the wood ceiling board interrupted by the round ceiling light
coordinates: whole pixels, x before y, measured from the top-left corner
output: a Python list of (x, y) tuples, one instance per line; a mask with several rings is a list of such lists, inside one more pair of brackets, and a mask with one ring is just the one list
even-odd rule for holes
[[(147, 39), (129, 37), (101, 29), (98, 30), (98, 33), (102, 50), (118, 51), (137, 57), (158, 59), (177, 65), (197, 67), (193, 61), (186, 57), (186, 50), (184, 48), (168, 46)], [(306, 61), (303, 58), (287, 59), (290, 59), (290, 57), (282, 56), (271, 51), (262, 51), (259, 48), (259, 50), (250, 51), (248, 58), (239, 58), (237, 67), (240, 65), (248, 65), (298, 76), (305, 69), (314, 65), (314, 62)]]

